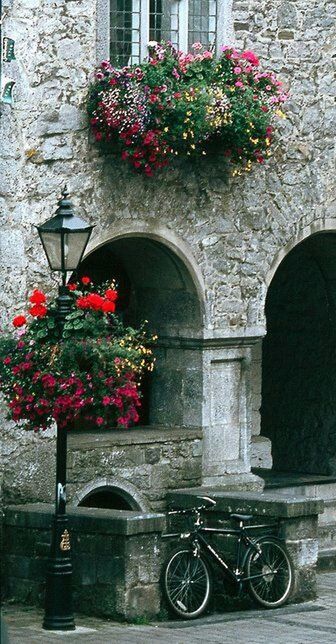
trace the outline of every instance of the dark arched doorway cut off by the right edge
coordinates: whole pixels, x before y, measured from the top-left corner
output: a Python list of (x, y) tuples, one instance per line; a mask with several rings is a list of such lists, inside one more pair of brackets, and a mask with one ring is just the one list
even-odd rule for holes
[(282, 261), (266, 299), (261, 433), (273, 469), (336, 474), (336, 234)]

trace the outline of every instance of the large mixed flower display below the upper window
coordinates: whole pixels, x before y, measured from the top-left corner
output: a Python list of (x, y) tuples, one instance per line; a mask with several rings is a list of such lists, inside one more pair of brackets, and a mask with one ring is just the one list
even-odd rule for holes
[(287, 94), (253, 52), (222, 47), (215, 59), (200, 43), (189, 54), (170, 43), (150, 43), (149, 51), (141, 65), (103, 61), (96, 71), (88, 113), (97, 142), (147, 176), (176, 156), (220, 151), (249, 171), (271, 155)]

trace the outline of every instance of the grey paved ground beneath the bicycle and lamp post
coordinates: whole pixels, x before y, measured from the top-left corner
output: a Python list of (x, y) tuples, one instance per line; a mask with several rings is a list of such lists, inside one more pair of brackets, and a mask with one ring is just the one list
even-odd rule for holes
[[(5, 606), (8, 644), (335, 644), (336, 572), (318, 577), (318, 599), (273, 611), (212, 614), (192, 622), (126, 625), (76, 615), (76, 631), (43, 631), (42, 612)], [(2, 642), (7, 644), (7, 642)]]

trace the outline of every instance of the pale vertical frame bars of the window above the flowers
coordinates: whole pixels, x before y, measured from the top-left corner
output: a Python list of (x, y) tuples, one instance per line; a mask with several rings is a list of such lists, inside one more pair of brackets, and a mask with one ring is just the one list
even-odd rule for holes
[[(188, 0), (179, 0), (179, 48), (188, 50)], [(140, 58), (147, 54), (149, 41), (149, 0), (139, 0), (141, 3), (140, 18)], [(96, 61), (108, 60), (110, 57), (110, 0), (96, 0), (97, 3), (97, 32), (96, 32)], [(217, 0), (216, 21), (216, 55), (220, 53), (221, 45), (234, 44), (232, 18), (233, 0)]]

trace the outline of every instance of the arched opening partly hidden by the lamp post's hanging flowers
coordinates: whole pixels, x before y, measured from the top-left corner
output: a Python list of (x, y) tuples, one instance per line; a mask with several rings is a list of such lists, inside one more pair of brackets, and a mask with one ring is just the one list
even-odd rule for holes
[[(144, 235), (111, 240), (91, 252), (79, 273), (115, 279), (125, 324), (148, 320), (159, 336), (156, 366), (144, 382), (142, 425), (201, 426), (202, 304), (191, 274), (168, 246)], [(197, 343), (196, 343), (197, 344)]]

